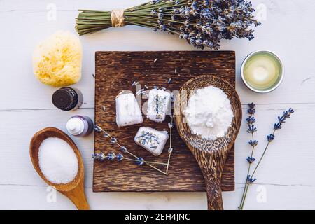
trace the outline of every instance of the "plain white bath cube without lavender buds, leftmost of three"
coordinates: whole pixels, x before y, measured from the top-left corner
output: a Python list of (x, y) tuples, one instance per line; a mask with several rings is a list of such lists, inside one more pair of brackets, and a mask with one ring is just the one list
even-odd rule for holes
[(121, 92), (116, 97), (116, 123), (118, 127), (143, 123), (142, 113), (134, 94)]

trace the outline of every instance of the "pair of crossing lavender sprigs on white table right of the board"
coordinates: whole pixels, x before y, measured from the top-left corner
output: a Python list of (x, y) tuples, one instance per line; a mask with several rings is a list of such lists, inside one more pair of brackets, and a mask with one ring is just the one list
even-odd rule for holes
[(248, 144), (250, 144), (252, 146), (252, 152), (251, 152), (251, 156), (249, 156), (246, 159), (248, 162), (248, 172), (246, 175), (246, 181), (245, 181), (245, 187), (244, 187), (243, 195), (241, 196), (241, 203), (239, 204), (240, 210), (242, 210), (244, 208), (244, 203), (246, 200), (246, 195), (247, 195), (249, 186), (256, 181), (256, 178), (254, 176), (255, 172), (257, 171), (257, 169), (260, 165), (260, 162), (262, 161), (262, 158), (264, 158), (269, 144), (274, 140), (274, 137), (275, 137), (274, 133), (276, 132), (276, 130), (280, 130), (283, 123), (286, 122), (286, 118), (290, 118), (291, 114), (294, 113), (293, 109), (288, 109), (288, 111), (283, 112), (282, 116), (278, 117), (278, 123), (274, 124), (274, 130), (273, 130), (272, 134), (267, 135), (267, 145), (265, 146), (265, 150), (263, 151), (263, 153), (260, 157), (260, 160), (258, 160), (258, 163), (255, 166), (255, 169), (253, 169), (252, 174), (249, 174), (250, 169), (251, 169), (251, 164), (255, 161), (255, 158), (253, 158), (253, 151), (254, 151), (255, 146), (257, 146), (258, 141), (256, 141), (253, 137), (253, 133), (257, 131), (257, 128), (255, 127), (255, 125), (253, 125), (255, 123), (255, 118), (253, 117), (253, 115), (255, 113), (255, 104), (251, 103), (251, 104), (248, 104), (248, 106), (249, 106), (248, 113), (250, 115), (248, 116), (246, 121), (247, 121), (247, 125), (248, 125), (247, 132), (251, 133), (251, 135), (252, 135), (252, 140), (248, 141)]

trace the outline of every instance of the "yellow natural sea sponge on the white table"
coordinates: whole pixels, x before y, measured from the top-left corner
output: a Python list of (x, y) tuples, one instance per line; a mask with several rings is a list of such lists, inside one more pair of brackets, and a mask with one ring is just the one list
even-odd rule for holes
[(62, 87), (81, 78), (82, 45), (69, 31), (57, 31), (34, 50), (34, 74), (42, 83)]

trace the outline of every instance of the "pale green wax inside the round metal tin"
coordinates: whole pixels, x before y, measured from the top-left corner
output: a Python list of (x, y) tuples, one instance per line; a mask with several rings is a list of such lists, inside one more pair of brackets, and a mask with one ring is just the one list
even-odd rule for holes
[(282, 68), (279, 59), (267, 52), (258, 52), (247, 60), (244, 78), (256, 90), (269, 90), (281, 78)]

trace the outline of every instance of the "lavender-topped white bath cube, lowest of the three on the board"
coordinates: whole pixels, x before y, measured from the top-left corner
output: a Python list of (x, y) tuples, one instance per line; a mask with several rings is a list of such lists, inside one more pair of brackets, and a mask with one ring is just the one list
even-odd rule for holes
[(139, 146), (144, 147), (155, 156), (162, 153), (167, 139), (169, 139), (167, 131), (158, 131), (151, 127), (140, 127), (134, 137), (134, 141)]

